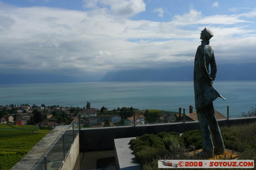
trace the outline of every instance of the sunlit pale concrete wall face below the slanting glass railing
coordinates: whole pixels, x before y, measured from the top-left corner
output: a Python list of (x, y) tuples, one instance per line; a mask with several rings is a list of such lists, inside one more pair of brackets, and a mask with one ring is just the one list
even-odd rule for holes
[(74, 139), (74, 142), (71, 145), (66, 155), (66, 159), (60, 166), (59, 170), (74, 169), (76, 164), (76, 159), (78, 158), (78, 156), (79, 156), (79, 133), (76, 135), (76, 138)]

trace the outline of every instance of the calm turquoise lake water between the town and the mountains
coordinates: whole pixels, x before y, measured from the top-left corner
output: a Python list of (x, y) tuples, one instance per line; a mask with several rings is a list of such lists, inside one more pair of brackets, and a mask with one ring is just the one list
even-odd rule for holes
[[(213, 86), (227, 100), (213, 102), (215, 110), (227, 115), (248, 112), (256, 104), (256, 81), (214, 82)], [(0, 85), (0, 105), (36, 104), (91, 107), (108, 110), (117, 107), (189, 111), (195, 105), (193, 82), (86, 82), (60, 84)], [(195, 109), (194, 109), (195, 111)], [(182, 109), (183, 112), (183, 109)]]

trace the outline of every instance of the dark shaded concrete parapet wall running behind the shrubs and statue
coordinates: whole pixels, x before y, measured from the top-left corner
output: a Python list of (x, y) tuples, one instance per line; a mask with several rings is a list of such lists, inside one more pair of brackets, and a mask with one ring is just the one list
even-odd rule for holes
[[(256, 117), (240, 118), (231, 120), (219, 120), (220, 126), (231, 126), (255, 122)], [(114, 149), (114, 139), (136, 137), (146, 133), (157, 134), (159, 132), (179, 132), (200, 129), (198, 122), (152, 124), (140, 126), (124, 126), (109, 128), (91, 128), (79, 131), (80, 151), (95, 151)]]

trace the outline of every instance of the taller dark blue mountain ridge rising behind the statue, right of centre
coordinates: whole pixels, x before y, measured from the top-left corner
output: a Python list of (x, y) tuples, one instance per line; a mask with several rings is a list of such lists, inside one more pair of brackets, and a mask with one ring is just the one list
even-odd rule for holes
[[(100, 81), (193, 81), (194, 66), (110, 71)], [(216, 80), (256, 80), (256, 63), (219, 64)]]

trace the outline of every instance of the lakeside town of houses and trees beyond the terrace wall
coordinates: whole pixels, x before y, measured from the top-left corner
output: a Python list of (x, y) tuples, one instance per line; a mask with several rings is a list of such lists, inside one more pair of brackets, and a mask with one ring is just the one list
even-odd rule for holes
[[(144, 124), (160, 124), (172, 122), (192, 122), (198, 121), (196, 111), (193, 106), (189, 106), (189, 113), (181, 114), (179, 112), (169, 112), (162, 110), (139, 110), (133, 107), (122, 107), (108, 110), (106, 107), (91, 108), (91, 103), (87, 101), (86, 106), (80, 107), (62, 107), (62, 106), (30, 106), (28, 104), (0, 106), (0, 123), (13, 123), (13, 125), (36, 125), (39, 127), (54, 128), (59, 125), (68, 125), (74, 122), (78, 125), (78, 114), (81, 115), (81, 127), (100, 128), (113, 126), (129, 126)], [(178, 109), (177, 109), (178, 110)], [(215, 111), (217, 119), (226, 119), (226, 117)], [(134, 121), (135, 119), (135, 121)]]

